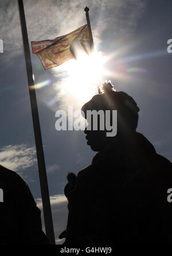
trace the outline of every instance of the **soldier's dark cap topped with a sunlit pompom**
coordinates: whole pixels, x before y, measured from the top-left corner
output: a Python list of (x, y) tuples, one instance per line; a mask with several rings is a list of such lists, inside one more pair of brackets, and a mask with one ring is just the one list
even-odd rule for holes
[(87, 110), (117, 110), (118, 125), (127, 124), (135, 130), (139, 112), (135, 100), (126, 92), (114, 91), (110, 82), (103, 83), (102, 88), (104, 93), (93, 96), (81, 108), (84, 112), (84, 118), (87, 119)]

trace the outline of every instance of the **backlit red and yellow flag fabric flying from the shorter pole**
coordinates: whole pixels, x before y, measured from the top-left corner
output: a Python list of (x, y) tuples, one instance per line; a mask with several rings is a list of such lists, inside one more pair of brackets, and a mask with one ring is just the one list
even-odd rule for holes
[(45, 69), (57, 67), (70, 59), (75, 59), (72, 45), (77, 42), (82, 49), (90, 53), (91, 40), (88, 25), (81, 26), (75, 31), (56, 37), (53, 40), (32, 42), (32, 51), (40, 58)]

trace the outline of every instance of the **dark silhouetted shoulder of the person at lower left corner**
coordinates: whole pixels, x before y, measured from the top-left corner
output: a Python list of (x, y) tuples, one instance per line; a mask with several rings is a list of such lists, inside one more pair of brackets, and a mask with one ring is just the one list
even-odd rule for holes
[(26, 182), (15, 172), (0, 165), (0, 245), (46, 245), (41, 211)]

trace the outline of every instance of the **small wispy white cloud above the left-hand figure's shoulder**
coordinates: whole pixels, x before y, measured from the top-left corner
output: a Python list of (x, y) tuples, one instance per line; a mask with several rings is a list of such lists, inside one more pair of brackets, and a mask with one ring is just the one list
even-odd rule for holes
[(6, 168), (22, 171), (36, 164), (36, 148), (28, 145), (8, 145), (0, 149), (0, 163)]

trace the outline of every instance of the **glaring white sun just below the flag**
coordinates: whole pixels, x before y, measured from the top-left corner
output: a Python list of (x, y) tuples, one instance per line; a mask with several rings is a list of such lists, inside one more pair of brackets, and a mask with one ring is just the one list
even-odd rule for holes
[(95, 51), (91, 56), (80, 52), (77, 60), (62, 64), (62, 68), (68, 73), (67, 79), (64, 80), (65, 91), (79, 102), (85, 102), (97, 94), (97, 86), (105, 75), (104, 63), (105, 58)]

